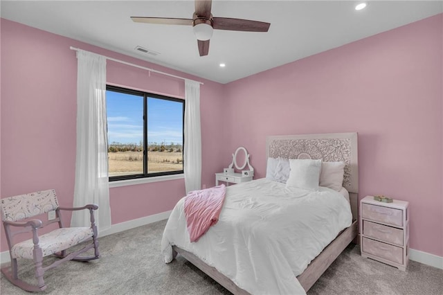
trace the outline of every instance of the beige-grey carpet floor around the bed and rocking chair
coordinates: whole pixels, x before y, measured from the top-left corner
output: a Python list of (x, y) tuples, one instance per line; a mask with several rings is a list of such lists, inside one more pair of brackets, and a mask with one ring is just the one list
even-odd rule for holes
[[(69, 261), (46, 271), (48, 288), (42, 294), (230, 294), (181, 256), (163, 263), (160, 241), (165, 224), (100, 238), (100, 259)], [(362, 258), (359, 251), (356, 245), (347, 247), (308, 294), (443, 294), (442, 269), (411, 261), (406, 272), (399, 271)], [(32, 263), (23, 260), (19, 267), (19, 276), (35, 282)], [(29, 294), (3, 275), (0, 293)]]

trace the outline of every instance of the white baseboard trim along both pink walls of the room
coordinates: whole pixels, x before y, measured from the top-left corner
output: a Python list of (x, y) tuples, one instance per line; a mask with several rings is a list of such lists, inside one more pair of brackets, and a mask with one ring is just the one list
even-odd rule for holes
[[(143, 226), (146, 224), (158, 222), (160, 220), (168, 219), (171, 212), (172, 211), (166, 211), (146, 217), (141, 217), (136, 220), (129, 220), (127, 222), (113, 224), (111, 226), (111, 229), (100, 232), (99, 237), (104, 237), (106, 235), (111, 235), (113, 233), (120, 233), (120, 231), (127, 231), (128, 229), (134, 229), (138, 226)], [(431, 253), (426, 253), (415, 249), (409, 249), (409, 259), (423, 263), (424, 265), (430, 265), (431, 267), (437, 267), (438, 269), (443, 269), (443, 257), (433, 255)], [(0, 263), (3, 264), (6, 262), (10, 262), (9, 251), (4, 251), (0, 253)]]

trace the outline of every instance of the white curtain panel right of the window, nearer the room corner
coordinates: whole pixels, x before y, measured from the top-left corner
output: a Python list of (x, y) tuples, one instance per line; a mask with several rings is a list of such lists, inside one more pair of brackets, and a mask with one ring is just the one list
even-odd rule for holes
[(201, 188), (200, 83), (185, 80), (185, 146), (183, 171), (186, 193)]

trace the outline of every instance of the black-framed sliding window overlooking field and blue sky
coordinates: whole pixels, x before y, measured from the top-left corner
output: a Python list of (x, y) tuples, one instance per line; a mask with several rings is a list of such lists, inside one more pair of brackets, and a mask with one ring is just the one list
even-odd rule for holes
[(185, 101), (107, 85), (109, 181), (183, 173)]

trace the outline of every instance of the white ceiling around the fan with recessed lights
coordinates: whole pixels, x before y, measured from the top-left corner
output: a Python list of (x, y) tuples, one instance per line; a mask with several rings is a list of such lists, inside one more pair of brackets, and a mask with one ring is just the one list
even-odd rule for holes
[[(200, 57), (191, 26), (129, 17), (192, 18), (193, 1), (1, 1), (1, 17), (227, 83), (443, 12), (442, 1), (213, 1), (214, 17), (271, 23), (268, 33), (215, 30)], [(142, 46), (159, 55), (135, 51)], [(226, 63), (220, 68), (219, 63)]]

